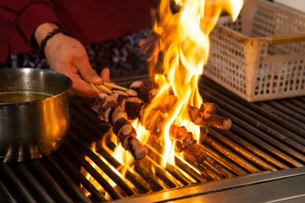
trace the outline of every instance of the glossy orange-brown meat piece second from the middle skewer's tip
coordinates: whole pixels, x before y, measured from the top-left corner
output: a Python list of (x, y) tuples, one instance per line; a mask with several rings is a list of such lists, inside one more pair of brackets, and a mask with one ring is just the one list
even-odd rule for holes
[(169, 137), (182, 142), (185, 146), (191, 146), (197, 142), (193, 138), (192, 132), (188, 132), (185, 126), (171, 125), (169, 128)]

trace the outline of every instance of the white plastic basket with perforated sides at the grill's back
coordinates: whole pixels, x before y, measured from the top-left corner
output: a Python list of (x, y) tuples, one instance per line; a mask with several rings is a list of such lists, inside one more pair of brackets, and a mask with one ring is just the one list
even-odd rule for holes
[(305, 95), (305, 15), (248, 0), (211, 31), (203, 74), (252, 102)]

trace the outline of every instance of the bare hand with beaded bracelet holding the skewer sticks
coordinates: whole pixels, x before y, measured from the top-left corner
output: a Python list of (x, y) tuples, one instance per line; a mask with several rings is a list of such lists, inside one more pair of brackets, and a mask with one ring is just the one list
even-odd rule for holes
[[(43, 23), (35, 31), (35, 39), (38, 44), (47, 36), (48, 32), (58, 28), (54, 23)], [(97, 93), (88, 83), (101, 84), (103, 81), (109, 82), (109, 70), (104, 69), (101, 77), (89, 64), (88, 56), (84, 46), (76, 39), (57, 33), (50, 38), (44, 49), (45, 56), (50, 66), (50, 70), (64, 74), (71, 78), (73, 87), (71, 93), (95, 97)], [(80, 75), (79, 75), (80, 74)], [(101, 92), (103, 92), (101, 90)]]

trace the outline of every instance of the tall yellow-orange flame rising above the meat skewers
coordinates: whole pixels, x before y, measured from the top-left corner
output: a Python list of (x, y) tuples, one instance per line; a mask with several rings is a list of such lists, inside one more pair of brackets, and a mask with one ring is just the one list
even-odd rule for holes
[[(208, 35), (215, 26), (222, 11), (231, 14), (233, 20), (238, 16), (242, 0), (184, 0), (175, 2), (161, 1), (157, 10), (158, 20), (153, 31), (158, 33), (160, 41), (156, 43), (150, 69), (154, 69), (159, 52), (162, 51), (163, 75), (156, 74), (155, 81), (159, 85), (159, 94), (152, 105), (162, 102), (162, 95), (171, 89), (178, 97), (178, 103), (165, 125), (165, 152), (169, 157), (172, 142), (169, 138), (171, 124), (185, 126), (199, 140), (200, 129), (184, 119), (188, 105), (199, 107), (202, 98), (198, 92), (198, 80), (203, 73), (203, 66), (209, 52)], [(174, 9), (173, 9), (174, 8)], [(173, 10), (176, 10), (173, 14)], [(171, 158), (172, 159), (172, 158)], [(167, 160), (163, 162), (165, 167)]]

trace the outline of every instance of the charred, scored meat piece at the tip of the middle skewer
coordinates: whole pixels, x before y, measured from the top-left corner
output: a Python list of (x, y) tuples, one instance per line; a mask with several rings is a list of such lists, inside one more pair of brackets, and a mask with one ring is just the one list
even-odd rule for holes
[(197, 143), (189, 147), (184, 147), (183, 152), (186, 157), (198, 164), (202, 163), (207, 157), (205, 150)]

